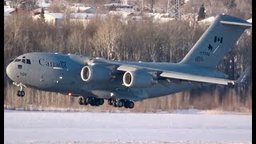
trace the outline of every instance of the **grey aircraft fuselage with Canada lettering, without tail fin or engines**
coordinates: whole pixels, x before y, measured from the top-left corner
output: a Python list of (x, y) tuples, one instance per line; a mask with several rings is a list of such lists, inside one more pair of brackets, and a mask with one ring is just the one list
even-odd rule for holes
[[(108, 82), (84, 82), (80, 72), (86, 62), (92, 59), (78, 54), (51, 54), (51, 53), (29, 53), (22, 54), (16, 59), (19, 62), (10, 62), (6, 73), (14, 82), (22, 83), (38, 90), (58, 92), (62, 94), (71, 93), (74, 96), (110, 98), (110, 93), (118, 95), (118, 98), (133, 97), (134, 95), (142, 100), (155, 98), (167, 94), (174, 94), (182, 90), (189, 90), (202, 86), (197, 82), (169, 82), (163, 78), (150, 87), (131, 88), (122, 85), (123, 73), (116, 74), (116, 78)], [(30, 60), (27, 64), (26, 59)], [(97, 60), (97, 58), (94, 58)], [(101, 58), (99, 60), (102, 60)], [(15, 60), (14, 60), (15, 61)], [(116, 61), (115, 61), (116, 62)], [(178, 72), (189, 72), (190, 74), (201, 74), (215, 78), (226, 78), (216, 70), (206, 69), (201, 66), (191, 66), (178, 63), (163, 62), (118, 62), (136, 66), (146, 66), (162, 70), (173, 70)], [(207, 83), (209, 85), (209, 83)]]

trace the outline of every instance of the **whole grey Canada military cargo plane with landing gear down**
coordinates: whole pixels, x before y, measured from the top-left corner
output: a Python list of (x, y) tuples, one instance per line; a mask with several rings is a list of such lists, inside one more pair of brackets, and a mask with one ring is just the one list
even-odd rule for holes
[(115, 107), (132, 109), (134, 102), (182, 90), (245, 82), (248, 67), (238, 80), (227, 79), (215, 67), (251, 23), (230, 15), (218, 15), (186, 57), (178, 63), (118, 62), (79, 54), (34, 52), (22, 54), (6, 67), (19, 86), (78, 97), (80, 105), (101, 106), (104, 99)]

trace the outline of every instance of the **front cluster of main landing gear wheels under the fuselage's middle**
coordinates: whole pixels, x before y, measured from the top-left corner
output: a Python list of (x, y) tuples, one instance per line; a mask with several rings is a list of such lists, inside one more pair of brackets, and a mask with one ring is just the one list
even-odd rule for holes
[(102, 98), (94, 98), (94, 97), (87, 97), (87, 98), (78, 98), (79, 105), (88, 105), (90, 106), (102, 106), (104, 104), (104, 99)]

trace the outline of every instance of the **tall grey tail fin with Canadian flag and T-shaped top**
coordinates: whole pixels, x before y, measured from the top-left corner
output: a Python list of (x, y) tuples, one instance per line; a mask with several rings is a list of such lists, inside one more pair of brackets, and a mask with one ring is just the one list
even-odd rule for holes
[(214, 68), (231, 50), (250, 22), (230, 15), (218, 15), (180, 63)]

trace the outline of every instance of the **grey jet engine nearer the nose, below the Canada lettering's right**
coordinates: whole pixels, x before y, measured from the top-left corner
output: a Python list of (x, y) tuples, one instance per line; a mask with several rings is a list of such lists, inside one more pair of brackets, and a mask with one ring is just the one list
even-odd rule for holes
[(85, 82), (108, 82), (111, 72), (102, 66), (84, 66), (81, 70), (81, 78)]

